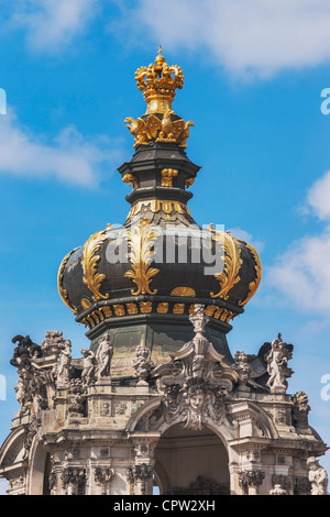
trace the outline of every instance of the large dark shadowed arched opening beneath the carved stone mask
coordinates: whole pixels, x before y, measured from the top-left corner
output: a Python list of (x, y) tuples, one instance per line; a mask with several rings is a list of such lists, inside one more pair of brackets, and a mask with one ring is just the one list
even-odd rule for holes
[(211, 430), (184, 429), (162, 435), (155, 449), (155, 473), (162, 495), (229, 495), (228, 453)]

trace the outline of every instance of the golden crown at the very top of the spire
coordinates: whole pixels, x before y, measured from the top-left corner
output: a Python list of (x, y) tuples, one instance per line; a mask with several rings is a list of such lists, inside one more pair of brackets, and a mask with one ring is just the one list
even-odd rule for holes
[(162, 54), (162, 46), (155, 57), (155, 64), (142, 66), (135, 72), (139, 91), (147, 103), (146, 113), (165, 113), (172, 109), (175, 90), (184, 86), (184, 74), (179, 66), (169, 66)]

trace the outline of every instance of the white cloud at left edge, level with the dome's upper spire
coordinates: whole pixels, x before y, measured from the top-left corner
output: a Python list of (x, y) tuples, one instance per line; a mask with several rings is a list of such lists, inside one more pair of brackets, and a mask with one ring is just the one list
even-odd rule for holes
[(11, 109), (0, 117), (0, 174), (90, 186), (98, 183), (102, 166), (111, 166), (120, 154), (107, 136), (86, 139), (68, 127), (48, 142), (23, 128)]

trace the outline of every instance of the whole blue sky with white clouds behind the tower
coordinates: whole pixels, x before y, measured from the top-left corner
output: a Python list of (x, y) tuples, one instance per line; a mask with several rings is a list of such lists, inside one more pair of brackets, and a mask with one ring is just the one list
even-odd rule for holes
[[(328, 0), (12, 0), (0, 2), (0, 441), (18, 409), (18, 333), (62, 330), (88, 344), (57, 293), (64, 255), (122, 223), (133, 154), (123, 123), (145, 111), (134, 72), (158, 45), (185, 75), (174, 109), (193, 120), (202, 168), (189, 208), (256, 246), (263, 279), (228, 339), (257, 353), (278, 332), (295, 345), (288, 393), (309, 396), (330, 443), (330, 87)], [(327, 389), (324, 389), (327, 394)], [(330, 393), (330, 389), (329, 389)], [(330, 471), (329, 454), (321, 464)]]

